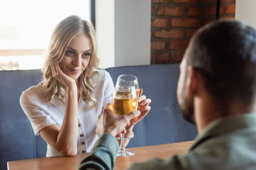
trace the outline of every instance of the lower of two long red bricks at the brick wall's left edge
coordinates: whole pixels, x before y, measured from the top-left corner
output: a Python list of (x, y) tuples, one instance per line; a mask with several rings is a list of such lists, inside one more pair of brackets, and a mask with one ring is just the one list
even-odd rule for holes
[(184, 31), (172, 29), (169, 31), (161, 30), (154, 32), (154, 37), (157, 38), (181, 38), (184, 36)]

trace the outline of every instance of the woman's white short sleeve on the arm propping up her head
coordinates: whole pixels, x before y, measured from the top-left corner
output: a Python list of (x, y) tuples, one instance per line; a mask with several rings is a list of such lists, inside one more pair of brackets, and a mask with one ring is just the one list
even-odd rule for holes
[(39, 131), (44, 127), (56, 124), (55, 121), (43, 109), (34, 105), (29, 94), (26, 91), (20, 96), (20, 106), (25, 112), (26, 116), (29, 118), (32, 128), (34, 130), (35, 136), (39, 135)]

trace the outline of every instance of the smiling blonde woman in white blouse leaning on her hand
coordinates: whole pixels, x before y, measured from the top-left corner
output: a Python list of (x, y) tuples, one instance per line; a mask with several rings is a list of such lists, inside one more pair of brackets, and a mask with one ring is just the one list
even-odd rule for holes
[[(65, 18), (52, 32), (43, 81), (20, 96), (35, 135), (47, 142), (47, 157), (90, 152), (98, 139), (96, 122), (111, 103), (114, 85), (107, 71), (96, 69), (96, 53), (92, 24), (78, 16)], [(150, 99), (139, 101), (141, 115), (131, 129), (150, 110)]]

